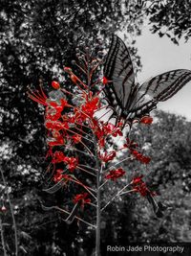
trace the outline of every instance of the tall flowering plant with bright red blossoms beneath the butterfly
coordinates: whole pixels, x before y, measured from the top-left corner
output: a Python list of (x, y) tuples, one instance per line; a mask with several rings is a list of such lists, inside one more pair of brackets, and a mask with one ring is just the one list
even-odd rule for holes
[[(52, 82), (53, 90), (47, 94), (42, 89), (30, 91), (29, 97), (36, 103), (45, 106), (45, 128), (47, 129), (47, 158), (50, 159), (49, 172), (53, 172), (53, 186), (46, 189), (54, 193), (60, 188), (67, 187), (71, 194), (72, 206), (58, 206), (44, 209), (57, 209), (66, 215), (65, 221), (71, 223), (74, 219), (83, 221), (96, 229), (96, 255), (100, 255), (100, 221), (101, 213), (115, 198), (130, 193), (138, 193), (147, 198), (158, 217), (162, 216), (164, 206), (154, 198), (143, 175), (131, 176), (122, 168), (117, 156), (121, 151), (129, 154), (126, 158), (148, 165), (149, 156), (142, 153), (138, 143), (126, 133), (125, 120), (108, 121), (108, 112), (104, 101), (103, 88), (110, 86), (105, 77), (99, 78), (102, 58), (100, 52), (92, 53), (89, 48), (85, 52), (77, 49), (77, 60), (73, 64), (78, 68), (81, 77), (72, 68), (64, 67), (64, 71), (74, 84), (69, 91), (58, 81)], [(98, 74), (98, 75), (97, 75)], [(149, 126), (153, 118), (144, 116), (139, 123)], [(117, 150), (111, 146), (115, 139), (122, 141)], [(124, 142), (125, 138), (125, 142)], [(120, 143), (121, 144), (121, 143)], [(89, 158), (85, 162), (84, 156)], [(124, 178), (125, 177), (125, 178)], [(114, 197), (107, 202), (102, 200), (106, 183), (124, 181), (122, 188), (117, 188)], [(129, 179), (129, 180), (128, 180)], [(128, 180), (128, 182), (127, 182)], [(74, 191), (76, 185), (77, 194)], [(96, 222), (86, 221), (88, 208), (95, 210)]]

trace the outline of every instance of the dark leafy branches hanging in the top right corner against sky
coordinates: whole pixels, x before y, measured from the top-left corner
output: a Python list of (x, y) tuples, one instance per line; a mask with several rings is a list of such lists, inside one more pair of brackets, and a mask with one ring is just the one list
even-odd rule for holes
[[(151, 1), (145, 1), (151, 2)], [(166, 35), (179, 44), (180, 38), (185, 41), (191, 36), (191, 2), (183, 1), (153, 1), (154, 4), (146, 10), (152, 25), (152, 33), (158, 33), (160, 37)]]

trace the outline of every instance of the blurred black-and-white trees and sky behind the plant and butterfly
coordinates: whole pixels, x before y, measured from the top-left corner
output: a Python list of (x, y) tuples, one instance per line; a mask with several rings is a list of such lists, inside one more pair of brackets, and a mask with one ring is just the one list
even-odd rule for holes
[[(77, 45), (101, 38), (107, 50), (114, 33), (130, 48), (137, 81), (171, 69), (190, 69), (190, 9), (187, 0), (0, 1), (0, 168), (17, 223), (19, 256), (90, 256), (95, 246), (94, 230), (76, 221), (67, 225), (60, 213), (42, 210), (41, 201), (62, 205), (64, 193), (43, 192), (49, 164), (44, 112), (27, 97), (28, 86), (34, 88), (43, 81), (48, 92), (57, 80), (70, 88), (63, 65), (72, 66)], [(102, 216), (103, 255), (108, 255), (107, 244), (191, 243), (190, 85), (159, 105), (152, 113), (152, 126), (134, 130), (145, 154), (152, 157), (148, 179), (168, 207), (164, 217), (156, 218), (138, 195), (116, 200)], [(138, 169), (128, 164), (124, 168)], [(108, 190), (113, 190), (113, 183)], [(2, 179), (0, 196), (1, 209), (7, 209), (0, 213), (6, 246), (9, 255), (14, 255), (11, 212)]]

